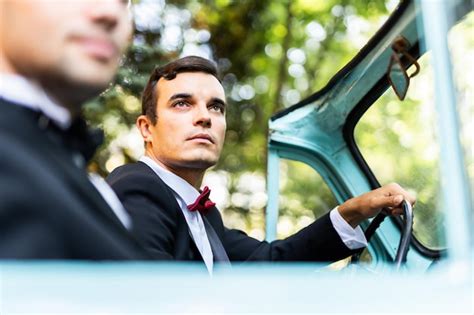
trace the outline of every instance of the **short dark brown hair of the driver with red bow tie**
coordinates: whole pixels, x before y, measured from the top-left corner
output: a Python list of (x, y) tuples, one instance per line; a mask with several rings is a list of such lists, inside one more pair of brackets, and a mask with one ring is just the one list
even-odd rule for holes
[(183, 72), (208, 73), (216, 77), (220, 82), (215, 64), (210, 60), (197, 56), (180, 58), (164, 66), (156, 67), (148, 79), (142, 96), (142, 115), (148, 116), (152, 124), (156, 124), (157, 119), (156, 102), (158, 101), (158, 91), (156, 84), (161, 78), (173, 80), (178, 73)]

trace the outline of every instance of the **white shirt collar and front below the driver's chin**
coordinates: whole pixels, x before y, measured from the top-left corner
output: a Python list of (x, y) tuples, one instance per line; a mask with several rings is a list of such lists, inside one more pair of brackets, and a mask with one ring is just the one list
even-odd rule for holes
[(140, 162), (148, 165), (163, 182), (171, 188), (176, 201), (184, 214), (186, 223), (188, 224), (191, 236), (196, 243), (196, 247), (201, 253), (207, 271), (212, 274), (214, 267), (214, 255), (212, 254), (211, 244), (207, 237), (206, 228), (199, 211), (189, 211), (188, 205), (194, 203), (196, 198), (200, 195), (199, 191), (194, 188), (187, 181), (164, 169), (158, 163), (148, 156), (142, 156)]

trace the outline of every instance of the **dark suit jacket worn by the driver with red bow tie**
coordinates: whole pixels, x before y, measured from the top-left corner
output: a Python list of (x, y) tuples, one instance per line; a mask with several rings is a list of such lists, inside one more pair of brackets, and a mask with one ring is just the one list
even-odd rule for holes
[[(177, 260), (202, 260), (172, 190), (148, 165), (137, 162), (121, 166), (107, 181), (132, 217), (132, 232), (151, 253), (164, 253)], [(227, 229), (216, 208), (206, 218), (230, 261), (334, 261), (353, 253), (341, 241), (329, 215), (285, 240), (271, 243)]]

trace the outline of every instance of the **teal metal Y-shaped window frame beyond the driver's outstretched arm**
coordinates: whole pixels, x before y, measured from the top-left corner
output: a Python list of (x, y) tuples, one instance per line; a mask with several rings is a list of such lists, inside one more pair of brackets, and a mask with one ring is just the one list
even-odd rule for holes
[[(419, 8), (410, 3), (385, 37), (326, 94), (269, 123), (269, 150), (277, 148), (281, 158), (303, 161), (312, 166), (340, 203), (370, 190), (365, 174), (353, 159), (343, 138), (344, 124), (362, 97), (385, 76), (393, 40), (399, 35), (412, 44), (418, 40), (416, 17), (419, 14)], [(375, 238), (371, 250), (377, 253), (376, 260), (393, 260), (400, 229), (391, 220), (385, 220)], [(431, 263), (430, 259), (414, 250), (409, 251), (407, 259), (408, 266), (415, 269), (425, 270)]]

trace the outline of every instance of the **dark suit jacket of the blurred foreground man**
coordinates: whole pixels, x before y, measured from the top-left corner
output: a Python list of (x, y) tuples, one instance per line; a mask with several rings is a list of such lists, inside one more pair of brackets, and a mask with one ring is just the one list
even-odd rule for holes
[(0, 99), (0, 259), (148, 258), (39, 117)]

